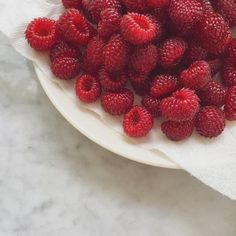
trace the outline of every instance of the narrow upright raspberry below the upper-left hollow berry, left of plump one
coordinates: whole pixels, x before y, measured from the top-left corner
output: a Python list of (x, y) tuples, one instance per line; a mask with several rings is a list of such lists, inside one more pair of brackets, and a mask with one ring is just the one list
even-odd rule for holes
[(95, 68), (99, 68), (103, 64), (102, 54), (104, 46), (105, 42), (97, 36), (89, 41), (87, 45), (85, 57)]

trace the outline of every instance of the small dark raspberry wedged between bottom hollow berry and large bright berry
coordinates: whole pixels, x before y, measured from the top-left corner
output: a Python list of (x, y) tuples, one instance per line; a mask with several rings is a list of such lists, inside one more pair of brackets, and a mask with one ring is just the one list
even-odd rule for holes
[(161, 101), (158, 98), (153, 98), (146, 95), (142, 98), (141, 103), (151, 113), (153, 117), (161, 116), (160, 112)]

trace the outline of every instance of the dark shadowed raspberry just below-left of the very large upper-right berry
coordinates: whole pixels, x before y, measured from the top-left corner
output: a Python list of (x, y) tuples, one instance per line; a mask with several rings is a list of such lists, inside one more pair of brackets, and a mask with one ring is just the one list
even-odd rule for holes
[(188, 43), (188, 49), (184, 55), (184, 63), (191, 65), (195, 61), (205, 60), (207, 58), (207, 50), (204, 49), (197, 41), (192, 40)]

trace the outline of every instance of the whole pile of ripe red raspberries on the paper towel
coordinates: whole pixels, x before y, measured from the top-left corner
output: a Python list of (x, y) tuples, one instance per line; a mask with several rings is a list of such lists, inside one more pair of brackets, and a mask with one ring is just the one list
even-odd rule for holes
[(213, 138), (236, 120), (236, 0), (62, 4), (58, 20), (34, 19), (26, 39), (49, 51), (58, 79), (76, 79), (78, 99), (99, 99), (105, 112), (123, 116), (126, 135), (146, 136), (160, 119), (173, 141), (194, 130)]

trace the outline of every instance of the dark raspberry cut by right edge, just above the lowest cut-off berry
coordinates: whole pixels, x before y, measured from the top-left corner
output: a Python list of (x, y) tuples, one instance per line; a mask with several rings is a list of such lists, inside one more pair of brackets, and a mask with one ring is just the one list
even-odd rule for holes
[(228, 58), (224, 61), (221, 75), (227, 87), (236, 86), (236, 61), (234, 59)]

